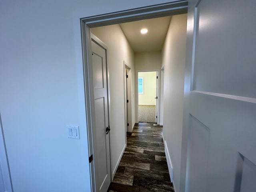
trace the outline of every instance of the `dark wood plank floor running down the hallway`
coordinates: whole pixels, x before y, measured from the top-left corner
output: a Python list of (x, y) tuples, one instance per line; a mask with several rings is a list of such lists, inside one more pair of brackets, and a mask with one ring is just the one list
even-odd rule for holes
[(108, 191), (174, 191), (164, 154), (162, 126), (139, 123), (127, 134), (127, 147)]

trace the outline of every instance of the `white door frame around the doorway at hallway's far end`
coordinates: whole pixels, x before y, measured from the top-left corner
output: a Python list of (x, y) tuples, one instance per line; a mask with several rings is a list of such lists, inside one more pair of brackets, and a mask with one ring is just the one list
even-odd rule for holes
[(154, 72), (154, 71), (156, 71), (157, 72), (157, 74), (156, 74), (156, 76), (158, 76), (158, 81), (157, 81), (157, 84), (156, 84), (156, 92), (157, 92), (157, 97), (158, 97), (158, 99), (156, 100), (157, 101), (157, 116), (158, 116), (158, 118), (156, 118), (156, 124), (159, 124), (160, 123), (160, 71), (161, 70), (158, 70), (158, 69), (150, 69), (150, 70), (136, 70), (136, 122), (138, 123), (139, 122), (139, 94), (138, 94), (138, 73), (139, 72)]

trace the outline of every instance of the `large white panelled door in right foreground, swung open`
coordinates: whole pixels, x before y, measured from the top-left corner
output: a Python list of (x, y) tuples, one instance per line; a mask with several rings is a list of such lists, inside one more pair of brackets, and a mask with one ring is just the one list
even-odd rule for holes
[(256, 189), (255, 10), (256, 1), (189, 1), (186, 192)]

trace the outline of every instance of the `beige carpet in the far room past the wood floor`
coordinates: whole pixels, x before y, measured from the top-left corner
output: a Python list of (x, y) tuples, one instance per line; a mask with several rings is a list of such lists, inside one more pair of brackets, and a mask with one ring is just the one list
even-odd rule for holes
[(156, 123), (156, 106), (139, 105), (139, 122)]

